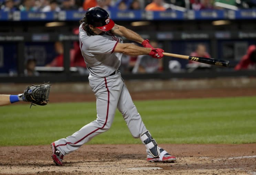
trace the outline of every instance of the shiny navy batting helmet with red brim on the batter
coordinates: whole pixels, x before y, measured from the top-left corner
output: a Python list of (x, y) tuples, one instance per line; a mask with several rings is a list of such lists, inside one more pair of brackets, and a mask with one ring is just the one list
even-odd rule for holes
[(115, 23), (109, 18), (108, 12), (99, 7), (89, 8), (85, 13), (85, 23), (93, 25), (102, 31), (109, 31)]

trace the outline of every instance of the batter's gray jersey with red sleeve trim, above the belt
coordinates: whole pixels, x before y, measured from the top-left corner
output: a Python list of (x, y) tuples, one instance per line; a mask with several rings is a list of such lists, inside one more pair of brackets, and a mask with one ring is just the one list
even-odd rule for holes
[(82, 24), (79, 27), (80, 49), (90, 74), (95, 77), (107, 77), (119, 68), (122, 54), (114, 53), (114, 49), (122, 42), (122, 38), (109, 32), (88, 36)]

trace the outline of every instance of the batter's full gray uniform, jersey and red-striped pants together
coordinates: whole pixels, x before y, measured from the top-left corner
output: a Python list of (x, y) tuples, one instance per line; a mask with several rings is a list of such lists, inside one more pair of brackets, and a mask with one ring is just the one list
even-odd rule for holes
[[(96, 97), (97, 119), (72, 136), (54, 142), (63, 155), (77, 150), (93, 137), (107, 131), (113, 123), (116, 108), (124, 117), (134, 138), (141, 137), (147, 131), (121, 78), (121, 72), (110, 75), (120, 66), (122, 54), (113, 51), (117, 42), (122, 42), (122, 39), (108, 32), (88, 36), (82, 26), (79, 29), (79, 39), (84, 60), (90, 71), (89, 85)], [(145, 138), (142, 139), (144, 140)], [(146, 147), (149, 149), (154, 146), (151, 142)]]

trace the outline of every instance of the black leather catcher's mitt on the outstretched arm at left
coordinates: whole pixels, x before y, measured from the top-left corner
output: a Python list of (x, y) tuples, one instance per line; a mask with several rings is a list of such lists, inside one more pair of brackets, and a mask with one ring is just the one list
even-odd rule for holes
[(30, 107), (34, 104), (41, 106), (47, 105), (49, 101), (50, 88), (51, 85), (48, 83), (28, 86), (23, 93), (23, 99), (26, 102), (31, 102)]

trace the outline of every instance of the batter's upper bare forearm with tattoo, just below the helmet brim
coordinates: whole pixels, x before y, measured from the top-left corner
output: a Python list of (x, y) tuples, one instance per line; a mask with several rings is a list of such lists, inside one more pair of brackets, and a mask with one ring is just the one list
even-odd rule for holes
[(113, 34), (117, 34), (117, 35), (121, 35), (126, 37), (129, 40), (135, 41), (137, 43), (142, 43), (143, 42), (143, 38), (137, 34), (136, 32), (129, 30), (128, 28), (124, 27), (124, 26), (119, 26), (117, 24), (115, 24), (115, 26), (113, 27), (113, 29), (111, 30), (111, 32)]

